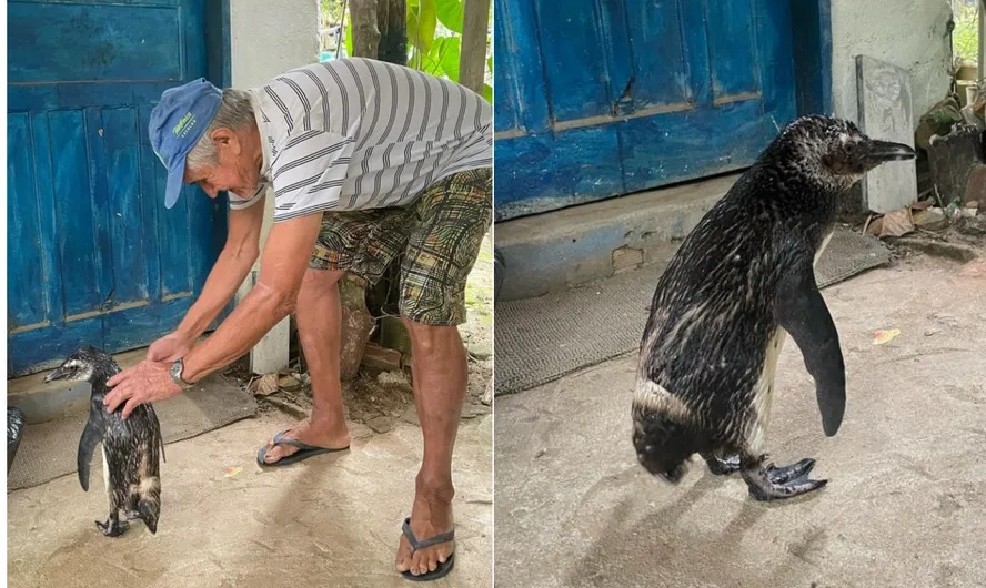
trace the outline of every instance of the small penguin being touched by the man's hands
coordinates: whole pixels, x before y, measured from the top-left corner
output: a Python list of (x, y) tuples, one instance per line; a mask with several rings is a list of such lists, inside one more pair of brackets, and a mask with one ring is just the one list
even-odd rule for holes
[[(119, 537), (129, 528), (129, 520), (140, 518), (151, 534), (158, 531), (161, 511), (160, 457), (164, 458), (164, 442), (158, 415), (150, 403), (138, 406), (123, 420), (120, 412), (108, 413), (103, 397), (109, 392), (107, 381), (120, 372), (120, 366), (108, 353), (84, 346), (66, 358), (44, 382), (71, 379), (89, 382), (92, 395), (89, 402), (89, 422), (79, 439), (79, 484), (89, 491), (89, 465), (95, 446), (102, 442), (103, 481), (110, 503), (105, 523), (95, 521), (107, 537)], [(125, 519), (120, 519), (123, 511)]]

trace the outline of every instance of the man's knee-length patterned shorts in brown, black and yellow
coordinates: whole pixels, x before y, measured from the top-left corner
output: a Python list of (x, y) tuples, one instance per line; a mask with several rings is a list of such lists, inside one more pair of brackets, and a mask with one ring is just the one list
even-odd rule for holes
[(370, 284), (399, 254), (401, 316), (425, 325), (465, 322), (465, 281), (493, 215), (493, 173), (467, 170), (439, 180), (406, 206), (324, 213), (309, 264)]

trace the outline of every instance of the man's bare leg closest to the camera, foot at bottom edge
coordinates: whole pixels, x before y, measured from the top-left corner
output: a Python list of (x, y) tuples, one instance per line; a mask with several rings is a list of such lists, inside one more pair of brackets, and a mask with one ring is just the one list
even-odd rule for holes
[[(467, 365), (465, 346), (454, 326), (430, 326), (405, 321), (411, 334), (414, 401), (424, 437), (424, 456), (417, 472), (411, 530), (419, 540), (453, 528), (452, 448), (465, 398)], [(411, 555), (402, 535), (398, 571), (414, 575), (434, 570), (452, 554), (451, 541)]]

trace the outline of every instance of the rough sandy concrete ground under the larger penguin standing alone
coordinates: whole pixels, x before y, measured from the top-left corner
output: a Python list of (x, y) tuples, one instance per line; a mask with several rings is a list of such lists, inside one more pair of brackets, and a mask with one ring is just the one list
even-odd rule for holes
[[(497, 586), (983, 586), (986, 263), (926, 256), (823, 291), (848, 403), (826, 438), (789, 339), (766, 449), (827, 487), (774, 504), (631, 445), (635, 358), (496, 399)], [(884, 345), (873, 333), (899, 328)]]

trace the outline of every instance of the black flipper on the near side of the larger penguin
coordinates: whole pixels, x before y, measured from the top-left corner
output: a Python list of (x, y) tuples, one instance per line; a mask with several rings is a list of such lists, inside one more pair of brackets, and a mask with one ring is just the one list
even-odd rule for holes
[(846, 410), (846, 366), (838, 332), (815, 283), (811, 257), (792, 268), (777, 290), (775, 318), (801, 349), (805, 367), (815, 378), (822, 427), (832, 437)]

